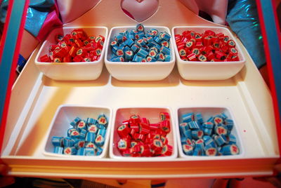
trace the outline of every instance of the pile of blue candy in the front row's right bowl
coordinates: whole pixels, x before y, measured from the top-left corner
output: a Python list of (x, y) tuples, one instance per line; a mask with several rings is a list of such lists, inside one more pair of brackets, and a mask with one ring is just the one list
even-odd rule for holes
[(183, 152), (189, 156), (221, 156), (240, 153), (233, 130), (233, 120), (221, 113), (204, 121), (201, 113), (181, 116), (180, 133)]

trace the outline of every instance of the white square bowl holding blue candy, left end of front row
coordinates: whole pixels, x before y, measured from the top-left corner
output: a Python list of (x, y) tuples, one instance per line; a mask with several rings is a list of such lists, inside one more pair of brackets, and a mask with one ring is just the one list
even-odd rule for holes
[[(107, 117), (108, 125), (105, 134), (105, 144), (103, 145), (103, 152), (98, 156), (77, 156), (77, 155), (65, 155), (65, 154), (55, 154), (53, 153), (54, 146), (52, 144), (52, 137), (66, 137), (67, 130), (73, 128), (70, 123), (76, 118), (87, 119), (93, 118), (97, 119), (98, 115), (105, 114)], [(72, 159), (99, 159), (104, 158), (107, 154), (108, 142), (110, 140), (110, 128), (111, 128), (111, 118), (112, 109), (108, 107), (98, 107), (98, 106), (81, 106), (81, 105), (60, 105), (55, 116), (51, 121), (51, 125), (48, 128), (48, 132), (45, 138), (45, 147), (43, 154), (46, 156), (59, 156), (59, 157), (69, 157)]]

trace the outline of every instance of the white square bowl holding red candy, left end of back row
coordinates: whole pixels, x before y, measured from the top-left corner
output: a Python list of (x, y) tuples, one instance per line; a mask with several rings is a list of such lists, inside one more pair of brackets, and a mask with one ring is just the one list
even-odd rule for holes
[(105, 54), (105, 44), (100, 58), (93, 62), (40, 62), (42, 55), (48, 54), (48, 48), (52, 44), (57, 44), (55, 35), (57, 34), (70, 34), (73, 29), (81, 28), (88, 36), (105, 36), (105, 43), (107, 40), (107, 27), (60, 27), (55, 28), (48, 35), (46, 41), (42, 44), (36, 58), (35, 65), (47, 77), (54, 80), (61, 81), (86, 81), (98, 79), (103, 70), (103, 58)]

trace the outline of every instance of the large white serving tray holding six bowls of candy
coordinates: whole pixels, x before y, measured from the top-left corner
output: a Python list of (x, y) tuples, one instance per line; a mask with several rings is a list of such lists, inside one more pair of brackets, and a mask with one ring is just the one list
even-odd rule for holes
[[(214, 25), (194, 15), (180, 1), (159, 1), (159, 9), (143, 25)], [(107, 11), (105, 11), (105, 9)], [(108, 12), (107, 16), (105, 14)], [(115, 13), (112, 15), (110, 13)], [(93, 19), (94, 18), (94, 19)], [(96, 8), (67, 26), (95, 25), (108, 29), (136, 23), (122, 13), (119, 1), (100, 1)], [(237, 40), (240, 46), (242, 43)], [(175, 66), (162, 81), (118, 81), (105, 67), (95, 81), (54, 81), (34, 65), (34, 51), (13, 86), (1, 159), (9, 175), (75, 178), (185, 178), (272, 175), (279, 158), (273, 102), (259, 70), (242, 46), (246, 64), (224, 81), (186, 81)], [(44, 156), (44, 137), (60, 105), (228, 107), (239, 126), (243, 156), (219, 160), (166, 159), (164, 161), (75, 160)], [(175, 117), (174, 117), (175, 118)]]

